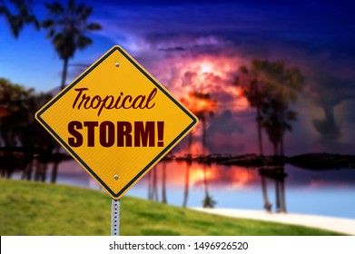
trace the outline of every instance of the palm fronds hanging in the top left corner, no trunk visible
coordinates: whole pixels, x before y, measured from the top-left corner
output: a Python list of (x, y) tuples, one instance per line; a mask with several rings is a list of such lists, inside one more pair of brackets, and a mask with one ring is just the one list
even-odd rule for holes
[(39, 28), (39, 23), (30, 8), (30, 2), (25, 0), (0, 1), (0, 16), (5, 16), (15, 38), (18, 37), (25, 24), (34, 24), (36, 28)]

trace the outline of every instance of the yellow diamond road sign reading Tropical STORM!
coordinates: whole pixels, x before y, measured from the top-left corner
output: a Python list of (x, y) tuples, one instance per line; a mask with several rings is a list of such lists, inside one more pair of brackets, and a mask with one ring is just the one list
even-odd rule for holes
[(192, 112), (120, 46), (35, 117), (114, 200), (197, 124)]

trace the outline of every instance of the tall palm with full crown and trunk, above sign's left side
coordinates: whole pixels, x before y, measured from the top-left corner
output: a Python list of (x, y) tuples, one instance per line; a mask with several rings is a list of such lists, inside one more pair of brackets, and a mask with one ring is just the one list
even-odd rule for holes
[(77, 49), (83, 50), (92, 44), (87, 32), (102, 29), (100, 24), (88, 23), (87, 19), (93, 8), (84, 4), (75, 4), (69, 0), (66, 5), (59, 2), (45, 4), (51, 18), (44, 20), (42, 26), (48, 30), (47, 38), (52, 40), (54, 49), (64, 61), (61, 89), (64, 89), (67, 75), (68, 62), (74, 57)]

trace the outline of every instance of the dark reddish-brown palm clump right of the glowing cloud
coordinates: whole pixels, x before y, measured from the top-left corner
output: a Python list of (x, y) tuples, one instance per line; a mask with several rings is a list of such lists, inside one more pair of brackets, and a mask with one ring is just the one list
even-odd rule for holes
[(296, 103), (304, 78), (296, 67), (286, 67), (284, 62), (253, 60), (251, 67), (241, 66), (234, 85), (241, 87), (251, 107), (256, 108), (259, 152), (262, 149), (264, 128), (273, 145), (274, 154), (284, 153), (284, 133), (291, 131), (291, 121), (297, 113), (289, 109)]

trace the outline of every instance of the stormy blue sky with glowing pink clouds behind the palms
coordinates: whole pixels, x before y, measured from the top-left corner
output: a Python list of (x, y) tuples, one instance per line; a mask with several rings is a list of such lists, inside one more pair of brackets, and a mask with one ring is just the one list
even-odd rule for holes
[[(34, 1), (45, 18), (44, 1)], [(349, 2), (349, 3), (347, 3)], [(114, 44), (122, 45), (178, 98), (191, 91), (217, 102), (208, 119), (211, 152), (256, 152), (255, 112), (232, 86), (241, 64), (283, 60), (306, 77), (298, 121), (286, 153), (353, 153), (355, 143), (355, 15), (350, 1), (85, 1), (104, 29), (70, 61), (68, 82)], [(44, 31), (25, 27), (15, 39), (0, 17), (0, 76), (49, 91), (63, 63)], [(340, 132), (340, 134), (337, 134)], [(201, 127), (194, 151), (201, 152)], [(268, 153), (271, 146), (265, 137)], [(184, 143), (181, 145), (181, 149)]]

